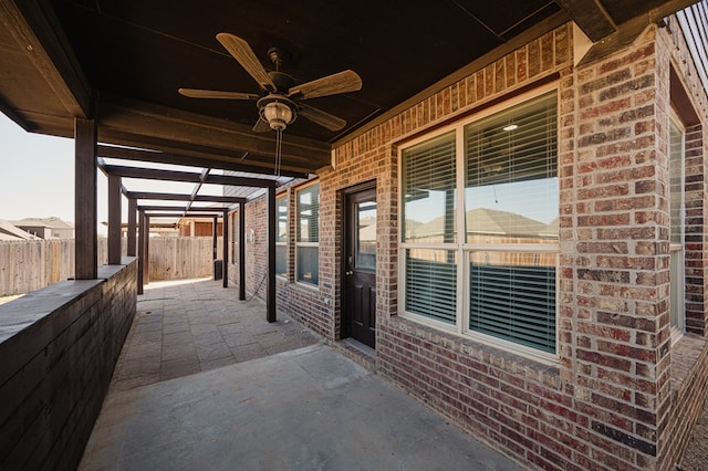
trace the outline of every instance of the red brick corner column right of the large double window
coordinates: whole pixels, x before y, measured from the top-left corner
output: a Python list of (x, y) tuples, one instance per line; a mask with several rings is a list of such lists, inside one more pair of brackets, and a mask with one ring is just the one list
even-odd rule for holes
[(576, 70), (573, 188), (562, 193), (561, 376), (586, 419), (576, 435), (613, 469), (655, 468), (668, 405), (668, 59), (654, 32)]

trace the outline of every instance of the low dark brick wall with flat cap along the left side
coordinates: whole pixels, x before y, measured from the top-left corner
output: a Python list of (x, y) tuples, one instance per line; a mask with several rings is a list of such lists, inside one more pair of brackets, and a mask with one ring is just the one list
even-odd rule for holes
[(137, 263), (0, 306), (0, 469), (75, 469), (135, 316)]

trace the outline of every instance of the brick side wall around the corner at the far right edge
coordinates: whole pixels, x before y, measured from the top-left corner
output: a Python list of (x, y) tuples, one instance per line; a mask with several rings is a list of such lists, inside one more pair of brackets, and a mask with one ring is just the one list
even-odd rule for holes
[[(670, 84), (671, 100), (685, 93), (689, 101), (690, 112), (696, 117), (679, 116), (688, 121), (685, 130), (685, 280), (686, 280), (686, 332), (670, 350), (669, 376), (670, 395), (665, 402), (665, 416), (659, 428), (658, 442), (662, 454), (658, 469), (674, 469), (686, 446), (694, 423), (702, 410), (704, 399), (708, 394), (708, 305), (706, 293), (708, 287), (706, 242), (708, 237), (708, 192), (706, 188), (706, 169), (708, 168), (708, 139), (702, 128), (708, 109), (708, 95), (688, 54), (686, 39), (677, 22), (671, 19), (665, 29), (657, 33), (657, 55), (665, 61), (665, 67), (671, 67), (678, 82)], [(670, 61), (670, 62), (669, 62)], [(670, 82), (670, 81), (669, 81)], [(680, 91), (677, 90), (680, 87)], [(679, 106), (681, 107), (681, 106)], [(683, 105), (686, 107), (686, 104)], [(679, 114), (686, 115), (683, 109)], [(690, 113), (688, 113), (690, 114)]]

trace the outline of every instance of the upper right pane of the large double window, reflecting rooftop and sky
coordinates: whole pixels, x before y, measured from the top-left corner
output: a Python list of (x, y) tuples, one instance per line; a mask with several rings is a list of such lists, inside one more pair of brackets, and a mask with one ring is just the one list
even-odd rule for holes
[(468, 243), (558, 240), (555, 95), (465, 128)]

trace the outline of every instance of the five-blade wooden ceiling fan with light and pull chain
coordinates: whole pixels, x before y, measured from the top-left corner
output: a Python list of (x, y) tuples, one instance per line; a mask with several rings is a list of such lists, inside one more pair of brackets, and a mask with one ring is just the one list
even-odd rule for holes
[(268, 72), (263, 69), (246, 40), (230, 33), (219, 33), (217, 34), (217, 40), (241, 64), (246, 72), (256, 80), (261, 93), (179, 88), (181, 95), (191, 98), (254, 101), (259, 111), (259, 119), (253, 126), (253, 130), (257, 133), (264, 133), (270, 129), (282, 132), (299, 115), (330, 130), (340, 130), (346, 125), (346, 122), (341, 117), (302, 102), (309, 98), (361, 90), (362, 78), (356, 72), (346, 70), (296, 85), (293, 77), (280, 72), (280, 65), (287, 55), (284, 51), (277, 48), (271, 48), (268, 51), (270, 60), (275, 65), (275, 71)]

